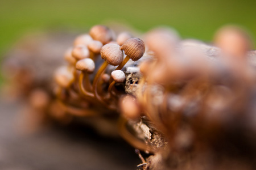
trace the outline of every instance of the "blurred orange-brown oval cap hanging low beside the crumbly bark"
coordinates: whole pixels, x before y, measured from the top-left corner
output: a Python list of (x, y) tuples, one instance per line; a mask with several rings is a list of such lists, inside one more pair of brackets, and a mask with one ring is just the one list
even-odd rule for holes
[(122, 97), (120, 100), (120, 108), (123, 116), (132, 120), (138, 119), (141, 114), (141, 109), (139, 108), (135, 97), (131, 95)]

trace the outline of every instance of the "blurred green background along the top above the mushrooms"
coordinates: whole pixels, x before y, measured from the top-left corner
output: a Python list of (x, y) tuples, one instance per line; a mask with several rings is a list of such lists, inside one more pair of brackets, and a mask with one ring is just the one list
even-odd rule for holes
[(221, 25), (231, 23), (242, 25), (254, 36), (255, 7), (255, 0), (0, 0), (0, 56), (24, 33), (59, 28), (82, 30), (106, 20), (130, 24), (139, 31), (170, 25), (182, 37), (204, 41), (210, 41)]

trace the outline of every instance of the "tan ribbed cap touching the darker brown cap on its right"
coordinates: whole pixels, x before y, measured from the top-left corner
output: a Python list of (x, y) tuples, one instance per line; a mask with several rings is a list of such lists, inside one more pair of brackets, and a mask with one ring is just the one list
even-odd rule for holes
[(123, 60), (123, 52), (117, 44), (106, 44), (101, 48), (101, 58), (110, 65), (117, 66)]

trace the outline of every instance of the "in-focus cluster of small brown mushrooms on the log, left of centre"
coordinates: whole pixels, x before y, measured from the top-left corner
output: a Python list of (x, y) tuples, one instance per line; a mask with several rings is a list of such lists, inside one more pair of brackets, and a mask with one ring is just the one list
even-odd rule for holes
[(65, 53), (68, 65), (60, 68), (65, 74), (60, 69), (55, 73), (56, 96), (64, 112), (73, 114), (70, 111), (75, 109), (86, 116), (86, 111), (93, 109), (102, 115), (118, 115), (118, 99), (126, 94), (123, 67), (130, 58), (138, 61), (144, 53), (141, 39), (127, 32), (115, 39), (114, 31), (104, 25), (95, 25), (88, 34), (78, 36)]

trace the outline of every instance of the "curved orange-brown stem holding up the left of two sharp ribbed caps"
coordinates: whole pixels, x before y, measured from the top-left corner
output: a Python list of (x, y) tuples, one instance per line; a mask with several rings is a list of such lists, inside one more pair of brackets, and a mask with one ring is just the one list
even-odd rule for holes
[(100, 101), (100, 103), (102, 103), (103, 105), (105, 105), (105, 107), (115, 110), (115, 108), (113, 107), (113, 105), (109, 105), (107, 104), (100, 95), (98, 95), (98, 90), (97, 90), (97, 85), (98, 85), (98, 80), (100, 79), (101, 74), (104, 72), (104, 70), (106, 69), (106, 67), (108, 66), (108, 62), (104, 61), (104, 63), (102, 63), (100, 69), (98, 69), (97, 74), (95, 75), (95, 78), (93, 80), (93, 94), (94, 97), (96, 97), (96, 99), (98, 101)]

